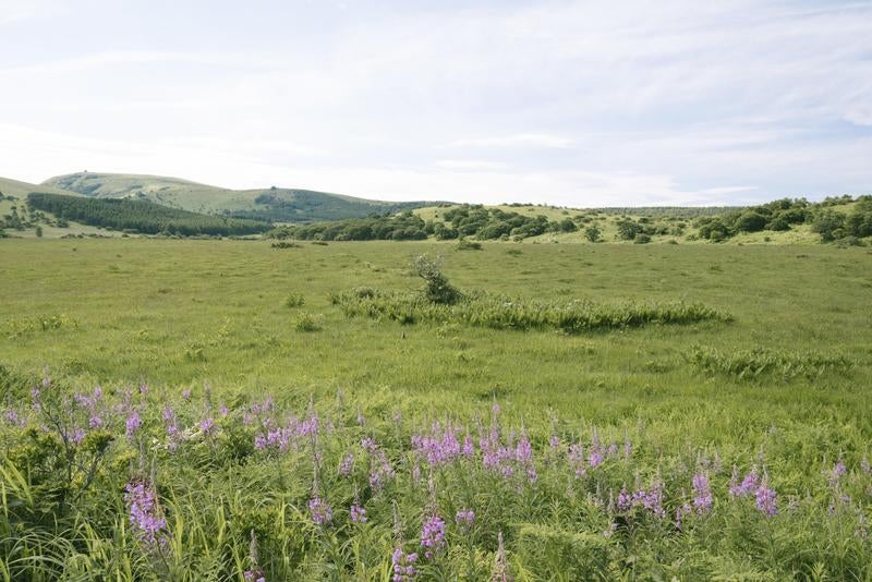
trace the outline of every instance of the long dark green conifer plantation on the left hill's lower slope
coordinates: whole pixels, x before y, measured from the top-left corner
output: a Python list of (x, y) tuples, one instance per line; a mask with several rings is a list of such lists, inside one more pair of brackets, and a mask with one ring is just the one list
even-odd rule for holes
[(144, 234), (244, 235), (264, 232), (269, 223), (201, 215), (129, 198), (87, 198), (35, 192), (27, 195), (32, 208), (95, 227)]

